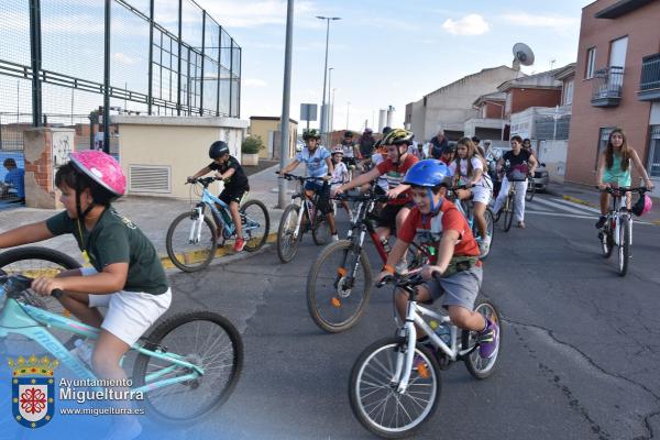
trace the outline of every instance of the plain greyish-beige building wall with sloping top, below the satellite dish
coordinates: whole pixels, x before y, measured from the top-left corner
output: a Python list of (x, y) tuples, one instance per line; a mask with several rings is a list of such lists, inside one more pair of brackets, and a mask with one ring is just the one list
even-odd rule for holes
[[(411, 128), (418, 136), (431, 139), (438, 130), (463, 132), (466, 120), (477, 117), (472, 103), (483, 95), (496, 91), (497, 86), (520, 75), (519, 72), (499, 66), (461, 78), (426, 96), (424, 122), (417, 121), (413, 111)], [(424, 106), (424, 99), (418, 101)], [(417, 102), (416, 102), (417, 103)]]

